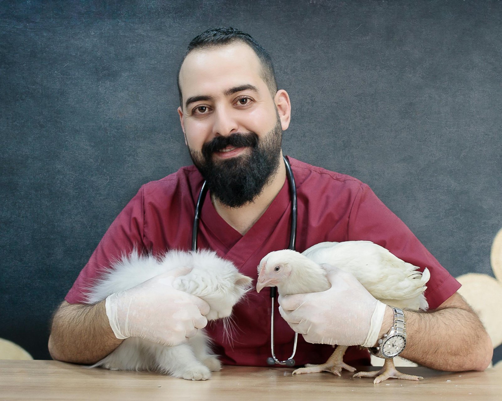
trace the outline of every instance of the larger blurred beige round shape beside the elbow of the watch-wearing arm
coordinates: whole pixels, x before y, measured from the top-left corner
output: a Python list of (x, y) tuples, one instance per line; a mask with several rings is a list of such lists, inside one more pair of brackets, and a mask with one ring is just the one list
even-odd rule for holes
[(457, 277), (462, 284), (458, 293), (483, 322), (493, 343), (493, 348), (502, 344), (502, 285), (485, 274), (468, 273)]

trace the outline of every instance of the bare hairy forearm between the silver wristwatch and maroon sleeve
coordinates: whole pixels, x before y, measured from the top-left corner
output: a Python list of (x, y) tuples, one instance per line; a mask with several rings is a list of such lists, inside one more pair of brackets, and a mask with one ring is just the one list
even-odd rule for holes
[(456, 294), (448, 307), (420, 313), (405, 311), (407, 345), (402, 357), (447, 371), (484, 370), (493, 347), (476, 314)]

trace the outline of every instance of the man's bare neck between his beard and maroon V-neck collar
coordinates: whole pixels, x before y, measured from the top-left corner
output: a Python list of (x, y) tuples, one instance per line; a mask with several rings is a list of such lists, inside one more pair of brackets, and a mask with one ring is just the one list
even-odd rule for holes
[(283, 162), (281, 151), (281, 161), (279, 168), (272, 176), (271, 180), (264, 186), (262, 193), (248, 204), (240, 208), (230, 208), (222, 205), (218, 199), (211, 199), (214, 209), (233, 229), (244, 235), (262, 217), (277, 194), (280, 192), (286, 180), (286, 167)]

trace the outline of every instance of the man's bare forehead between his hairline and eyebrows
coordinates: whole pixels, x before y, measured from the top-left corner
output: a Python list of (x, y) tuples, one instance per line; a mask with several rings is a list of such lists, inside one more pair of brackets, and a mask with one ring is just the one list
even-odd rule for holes
[(260, 59), (241, 42), (192, 51), (181, 66), (179, 80), (183, 99), (214, 95), (243, 84), (268, 89)]

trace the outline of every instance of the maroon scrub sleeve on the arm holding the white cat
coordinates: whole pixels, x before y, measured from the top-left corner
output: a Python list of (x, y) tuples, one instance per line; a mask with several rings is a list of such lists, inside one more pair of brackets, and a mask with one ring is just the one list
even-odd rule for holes
[(131, 199), (108, 228), (66, 295), (67, 302), (84, 303), (86, 288), (92, 285), (94, 279), (102, 271), (109, 268), (123, 255), (130, 254), (134, 249), (139, 252), (145, 250), (143, 193), (144, 187)]

